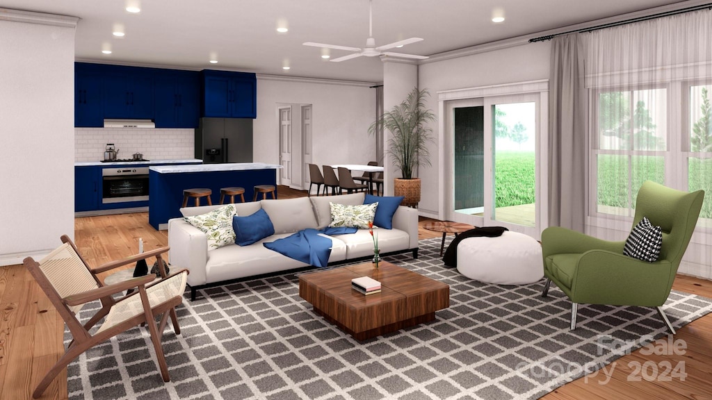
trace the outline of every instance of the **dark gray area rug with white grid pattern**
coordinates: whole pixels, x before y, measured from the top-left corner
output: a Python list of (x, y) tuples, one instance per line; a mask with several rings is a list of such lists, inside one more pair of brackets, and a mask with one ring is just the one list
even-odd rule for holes
[[(163, 338), (170, 382), (136, 327), (69, 365), (69, 398), (537, 399), (666, 335), (653, 308), (598, 305), (580, 305), (569, 331), (571, 303), (555, 285), (542, 298), (544, 280), (470, 280), (444, 267), (440, 240), (420, 241), (417, 260), (384, 258), (450, 285), (450, 307), (432, 322), (357, 342), (299, 297), (298, 275), (246, 280), (187, 295), (182, 335), (169, 323)], [(664, 310), (677, 328), (712, 302), (673, 292)]]

